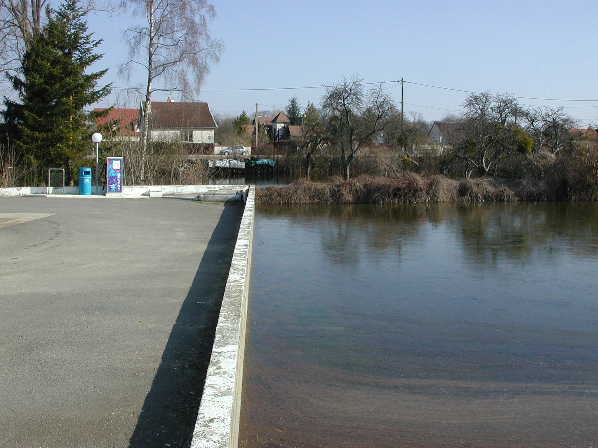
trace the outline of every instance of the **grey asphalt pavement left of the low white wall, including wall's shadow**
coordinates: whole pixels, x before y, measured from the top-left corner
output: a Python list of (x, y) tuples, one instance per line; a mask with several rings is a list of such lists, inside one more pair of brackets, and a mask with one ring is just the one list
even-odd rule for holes
[(0, 447), (188, 446), (242, 207), (0, 198), (0, 213), (51, 214), (0, 228)]

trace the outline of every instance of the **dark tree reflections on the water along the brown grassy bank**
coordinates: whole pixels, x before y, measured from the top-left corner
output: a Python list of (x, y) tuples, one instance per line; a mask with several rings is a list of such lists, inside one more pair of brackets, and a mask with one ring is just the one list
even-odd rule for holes
[(276, 205), (261, 213), (327, 226), (323, 244), (332, 251), (393, 246), (426, 223), (450, 226), (476, 265), (524, 260), (532, 252), (550, 257), (564, 247), (577, 256), (598, 254), (598, 208), (589, 203)]

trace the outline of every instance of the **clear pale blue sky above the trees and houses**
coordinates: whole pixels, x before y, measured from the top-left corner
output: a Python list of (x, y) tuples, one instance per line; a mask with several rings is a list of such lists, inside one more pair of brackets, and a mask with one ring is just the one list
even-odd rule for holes
[[(460, 90), (597, 100), (520, 101), (576, 106), (565, 110), (584, 124), (598, 123), (595, 1), (214, 0), (213, 5), (218, 16), (210, 30), (223, 39), (225, 50), (202, 86), (206, 90), (319, 86), (353, 74), (364, 82), (403, 76)], [(120, 35), (131, 21), (130, 14), (89, 18), (94, 36), (105, 39), (100, 51), (106, 56), (97, 68), (111, 67), (105, 79), (115, 86), (127, 85), (117, 76), (117, 64), (126, 58)], [(388, 92), (400, 101), (398, 85)], [(284, 108), (294, 94), (305, 106), (308, 100), (317, 104), (322, 90), (202, 91), (199, 99), (213, 112), (238, 115), (255, 111), (255, 103), (264, 105), (260, 109)], [(465, 95), (405, 83), (405, 111), (440, 119), (444, 109), (459, 111)], [(176, 99), (157, 93), (154, 100), (167, 96)], [(112, 96), (108, 103), (115, 101)]]

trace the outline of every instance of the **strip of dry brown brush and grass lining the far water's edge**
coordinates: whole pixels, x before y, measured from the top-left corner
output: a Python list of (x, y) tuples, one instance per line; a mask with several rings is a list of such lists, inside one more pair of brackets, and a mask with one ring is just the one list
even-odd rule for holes
[[(441, 162), (433, 165), (441, 166)], [(327, 182), (303, 178), (291, 185), (258, 188), (256, 201), (258, 204), (398, 204), (598, 200), (598, 148), (593, 144), (579, 145), (571, 154), (545, 162), (541, 170), (514, 180), (490, 176), (451, 179), (444, 174), (416, 173), (411, 170), (413, 165), (406, 164), (392, 165), (394, 171), (387, 171), (389, 175), (379, 172), (387, 168), (380, 164), (364, 163), (362, 167), (378, 172), (350, 180), (339, 176), (332, 176)]]

